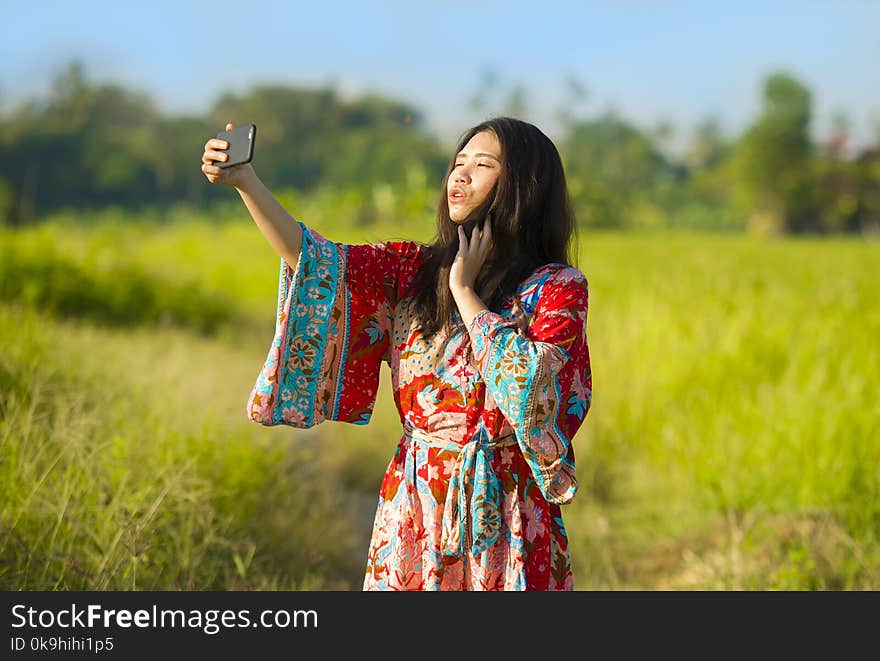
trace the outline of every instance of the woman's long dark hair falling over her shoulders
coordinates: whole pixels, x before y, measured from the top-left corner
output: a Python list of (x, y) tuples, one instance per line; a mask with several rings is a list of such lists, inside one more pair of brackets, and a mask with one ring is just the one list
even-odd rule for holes
[[(465, 223), (470, 232), (483, 219), (492, 223), (492, 247), (475, 282), (486, 306), (500, 311), (517, 285), (550, 262), (575, 265), (577, 224), (571, 209), (562, 160), (553, 142), (536, 126), (512, 117), (496, 117), (468, 130), (457, 155), (481, 131), (491, 131), (501, 144), (501, 172), (494, 195)], [(453, 156), (443, 178), (437, 205), (437, 231), (414, 279), (413, 304), (426, 339), (444, 326), (453, 329), (458, 310), (449, 289), (449, 269), (458, 253), (457, 224), (449, 217), (446, 182), (455, 167)], [(575, 239), (572, 241), (572, 239)]]

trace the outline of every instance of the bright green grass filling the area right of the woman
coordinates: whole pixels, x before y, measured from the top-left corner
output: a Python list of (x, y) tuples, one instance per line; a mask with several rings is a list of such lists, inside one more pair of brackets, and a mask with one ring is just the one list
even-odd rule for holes
[(581, 584), (877, 586), (880, 246), (603, 234), (585, 248)]

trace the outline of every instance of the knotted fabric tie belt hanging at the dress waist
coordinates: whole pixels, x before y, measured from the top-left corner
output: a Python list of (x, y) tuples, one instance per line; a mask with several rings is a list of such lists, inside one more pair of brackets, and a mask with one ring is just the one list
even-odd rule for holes
[(403, 433), (422, 445), (458, 453), (443, 505), (443, 555), (458, 558), (467, 548), (477, 556), (495, 544), (501, 534), (501, 488), (489, 451), (516, 445), (513, 432), (492, 438), (481, 423), (464, 445), (431, 436), (409, 422)]

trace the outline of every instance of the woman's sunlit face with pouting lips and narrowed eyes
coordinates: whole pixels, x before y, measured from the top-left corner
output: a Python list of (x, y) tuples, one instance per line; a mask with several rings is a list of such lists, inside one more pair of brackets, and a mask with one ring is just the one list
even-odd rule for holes
[(500, 174), (501, 144), (491, 131), (481, 131), (468, 140), (446, 180), (449, 217), (456, 223), (467, 220), (485, 201)]

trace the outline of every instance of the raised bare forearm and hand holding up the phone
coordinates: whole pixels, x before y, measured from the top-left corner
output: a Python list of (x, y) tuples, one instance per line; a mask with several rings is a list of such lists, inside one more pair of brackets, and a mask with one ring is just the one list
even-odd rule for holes
[[(227, 131), (232, 128), (232, 124), (226, 125)], [(266, 188), (250, 163), (231, 168), (214, 165), (215, 161), (228, 158), (225, 151), (228, 146), (218, 138), (208, 140), (202, 155), (202, 172), (212, 184), (235, 187), (269, 245), (291, 268), (295, 268), (302, 249), (302, 228)]]

